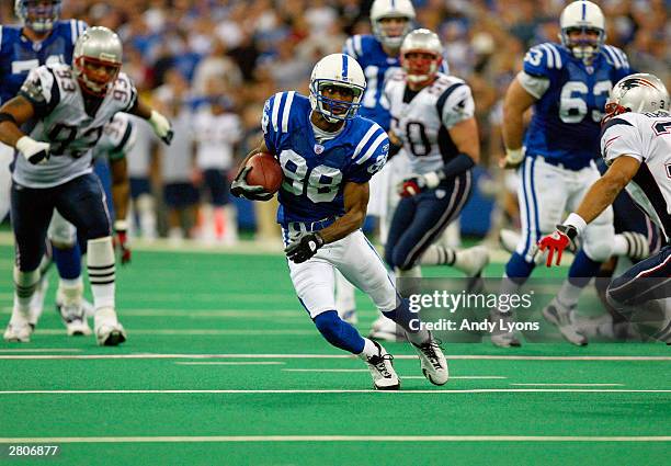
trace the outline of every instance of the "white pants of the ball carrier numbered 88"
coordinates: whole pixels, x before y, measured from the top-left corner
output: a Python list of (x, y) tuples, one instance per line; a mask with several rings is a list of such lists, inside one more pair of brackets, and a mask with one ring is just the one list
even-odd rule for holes
[[(283, 228), (285, 245), (299, 234)], [(396, 288), (385, 263), (361, 230), (325, 245), (306, 262), (287, 262), (296, 295), (312, 319), (336, 309), (336, 270), (366, 293), (380, 311), (391, 311), (398, 306)]]

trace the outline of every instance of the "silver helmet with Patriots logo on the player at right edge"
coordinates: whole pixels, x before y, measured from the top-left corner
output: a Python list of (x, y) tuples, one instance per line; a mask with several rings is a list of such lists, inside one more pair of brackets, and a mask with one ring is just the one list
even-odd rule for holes
[(669, 92), (655, 75), (637, 72), (622, 78), (611, 90), (606, 101), (605, 118), (625, 112), (648, 113), (669, 110)]

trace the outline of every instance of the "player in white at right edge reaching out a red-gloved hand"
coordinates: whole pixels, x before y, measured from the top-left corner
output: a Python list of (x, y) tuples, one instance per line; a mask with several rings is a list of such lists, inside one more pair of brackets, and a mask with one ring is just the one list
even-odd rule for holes
[[(582, 236), (599, 215), (626, 187), (632, 198), (671, 239), (671, 114), (669, 92), (659, 78), (632, 75), (615, 84), (606, 103), (601, 154), (609, 170), (593, 183), (578, 208), (557, 230), (538, 241), (549, 250), (547, 266), (556, 254)], [(609, 303), (625, 317), (636, 310), (661, 311), (653, 337), (671, 342), (671, 246), (645, 259), (616, 277), (607, 287)], [(633, 310), (632, 308), (637, 308)]]

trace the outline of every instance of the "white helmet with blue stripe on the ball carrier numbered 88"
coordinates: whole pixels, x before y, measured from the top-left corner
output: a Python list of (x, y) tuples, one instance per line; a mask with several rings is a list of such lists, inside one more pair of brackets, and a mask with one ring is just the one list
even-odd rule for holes
[[(326, 87), (346, 88), (352, 91), (352, 101), (329, 99), (322, 95)], [(366, 90), (366, 78), (359, 62), (345, 54), (327, 55), (315, 65), (310, 76), (310, 105), (329, 123), (352, 120), (361, 106)]]

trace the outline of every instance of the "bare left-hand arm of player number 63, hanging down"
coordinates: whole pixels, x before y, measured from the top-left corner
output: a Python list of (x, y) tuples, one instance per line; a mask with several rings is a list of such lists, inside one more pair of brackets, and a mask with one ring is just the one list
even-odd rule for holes
[(503, 144), (505, 158), (500, 161), (501, 168), (518, 168), (524, 160), (522, 139), (524, 136), (524, 113), (536, 102), (515, 78), (510, 83), (503, 99)]

